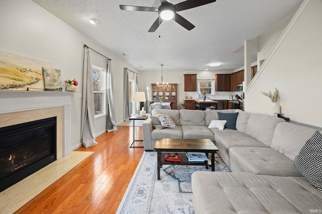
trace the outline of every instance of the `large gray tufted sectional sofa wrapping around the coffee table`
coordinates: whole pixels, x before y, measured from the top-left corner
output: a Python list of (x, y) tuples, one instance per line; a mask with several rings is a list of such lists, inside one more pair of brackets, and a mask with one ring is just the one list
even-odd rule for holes
[[(218, 112), (238, 112), (236, 130), (208, 128), (219, 119)], [(143, 123), (145, 150), (153, 150), (158, 138), (209, 138), (232, 171), (192, 174), (196, 213), (322, 212), (322, 192), (293, 162), (315, 129), (240, 110), (152, 111), (159, 113), (171, 115), (177, 128), (155, 129), (148, 118)], [(321, 175), (322, 163), (317, 164)]]

